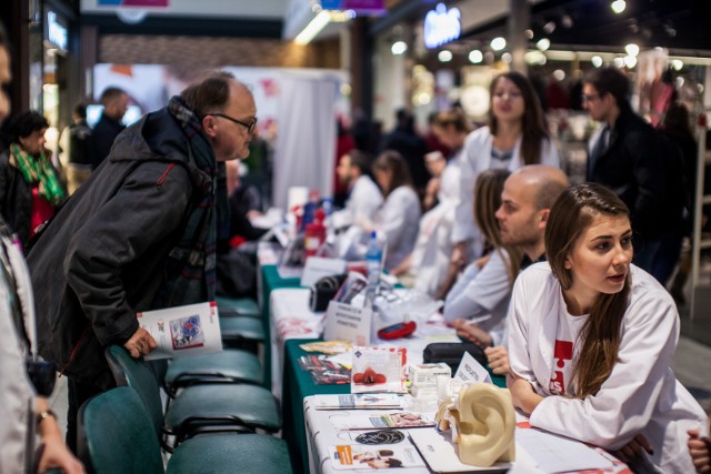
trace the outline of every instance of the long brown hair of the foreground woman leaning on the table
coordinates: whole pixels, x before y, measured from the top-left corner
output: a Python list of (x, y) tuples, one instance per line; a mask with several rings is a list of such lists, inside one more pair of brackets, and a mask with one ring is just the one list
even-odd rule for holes
[[(551, 209), (545, 223), (545, 253), (563, 291), (573, 282), (572, 272), (565, 269), (565, 259), (597, 215), (629, 219), (630, 211), (612, 191), (593, 183), (568, 188)], [(573, 367), (573, 396), (577, 399), (598, 393), (618, 361), (620, 326), (628, 306), (630, 278), (628, 273), (622, 291), (598, 296), (580, 332), (578, 340), (582, 342), (582, 349)]]

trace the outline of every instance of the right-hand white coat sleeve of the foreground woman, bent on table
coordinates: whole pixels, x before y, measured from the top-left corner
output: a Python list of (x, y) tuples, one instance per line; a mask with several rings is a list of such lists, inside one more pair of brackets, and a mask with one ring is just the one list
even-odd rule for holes
[[(545, 397), (531, 413), (531, 423), (605, 448), (623, 446), (650, 422), (678, 337), (679, 316), (670, 297), (649, 291), (632, 295), (622, 322), (618, 362), (600, 391), (584, 400)], [(520, 344), (520, 335), (517, 339), (510, 345)]]

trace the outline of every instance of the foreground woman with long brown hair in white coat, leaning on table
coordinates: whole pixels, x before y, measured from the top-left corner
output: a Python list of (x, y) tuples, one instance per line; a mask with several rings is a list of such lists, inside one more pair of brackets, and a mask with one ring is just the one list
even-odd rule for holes
[(545, 226), (548, 263), (517, 280), (509, 389), (531, 424), (617, 451), (634, 471), (693, 472), (687, 430), (703, 410), (670, 363), (679, 314), (632, 265), (629, 210), (597, 184), (569, 188)]

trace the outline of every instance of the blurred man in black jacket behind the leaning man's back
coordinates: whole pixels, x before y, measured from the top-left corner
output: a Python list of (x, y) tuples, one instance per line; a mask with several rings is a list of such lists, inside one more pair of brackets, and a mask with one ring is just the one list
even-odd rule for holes
[(129, 109), (129, 94), (123, 89), (107, 88), (101, 92), (101, 118), (89, 138), (89, 155), (93, 170), (109, 155), (113, 140), (126, 129), (121, 119)]

